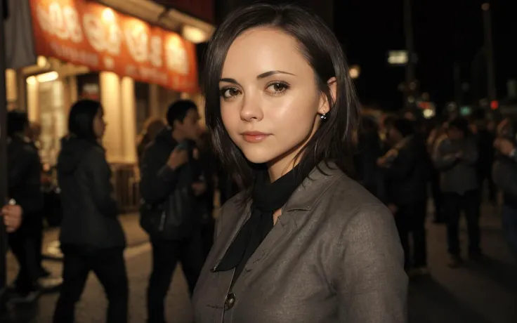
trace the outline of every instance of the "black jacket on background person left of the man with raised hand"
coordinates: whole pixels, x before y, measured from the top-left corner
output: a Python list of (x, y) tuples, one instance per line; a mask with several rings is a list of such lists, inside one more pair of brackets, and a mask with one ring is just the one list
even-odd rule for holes
[(105, 150), (95, 141), (63, 138), (58, 157), (58, 182), (63, 205), (62, 245), (92, 249), (126, 244), (113, 197), (112, 172)]

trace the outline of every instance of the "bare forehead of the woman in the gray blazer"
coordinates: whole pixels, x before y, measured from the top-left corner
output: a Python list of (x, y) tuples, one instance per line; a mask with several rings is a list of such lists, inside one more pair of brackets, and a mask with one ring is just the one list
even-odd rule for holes
[(272, 70), (296, 75), (312, 72), (296, 39), (277, 29), (256, 28), (233, 41), (223, 65), (223, 77), (256, 77)]

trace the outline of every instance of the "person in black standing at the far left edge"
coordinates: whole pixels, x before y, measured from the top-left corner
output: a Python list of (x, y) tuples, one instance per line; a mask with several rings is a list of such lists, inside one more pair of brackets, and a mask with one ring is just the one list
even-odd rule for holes
[(11, 250), (20, 265), (14, 298), (32, 301), (37, 296), (39, 275), (37, 230), (43, 230), (41, 161), (36, 147), (25, 136), (29, 127), (27, 113), (15, 110), (7, 117), (8, 197), (20, 204), (24, 213), (20, 229), (9, 235)]

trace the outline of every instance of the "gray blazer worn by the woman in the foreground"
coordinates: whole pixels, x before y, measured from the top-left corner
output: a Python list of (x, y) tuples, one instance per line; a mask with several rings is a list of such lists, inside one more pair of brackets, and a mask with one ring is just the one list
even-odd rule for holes
[(214, 272), (250, 216), (242, 195), (221, 211), (193, 295), (196, 323), (403, 323), (407, 276), (393, 216), (335, 166), (320, 165), (282, 208), (230, 290)]

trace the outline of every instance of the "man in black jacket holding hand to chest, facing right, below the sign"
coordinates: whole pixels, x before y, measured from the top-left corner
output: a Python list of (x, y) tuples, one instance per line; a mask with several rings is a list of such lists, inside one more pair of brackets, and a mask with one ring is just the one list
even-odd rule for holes
[[(178, 261), (191, 294), (204, 263), (200, 230), (204, 211), (200, 209), (206, 210), (206, 205), (195, 202), (207, 191), (207, 184), (199, 172), (202, 168), (192, 156), (192, 142), (201, 134), (197, 107), (190, 100), (177, 101), (169, 107), (166, 119), (169, 126), (147, 147), (140, 164), (141, 224), (150, 234), (152, 244), (148, 287), (150, 323), (164, 322), (164, 298)], [(168, 201), (175, 198), (178, 187), (187, 194), (181, 201), (174, 201), (183, 204), (182, 207), (173, 205), (171, 210)], [(187, 218), (179, 218), (182, 214), (178, 209), (188, 212)]]

